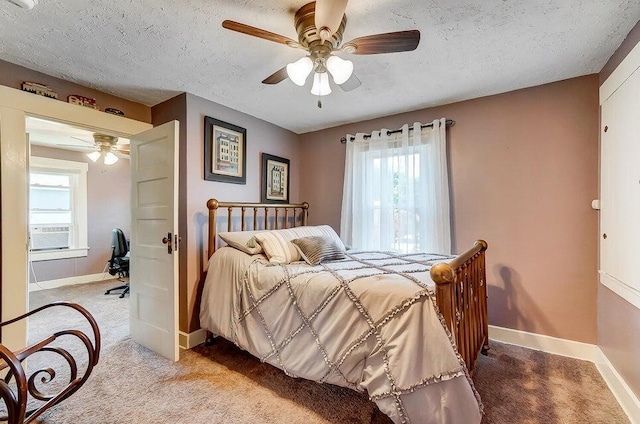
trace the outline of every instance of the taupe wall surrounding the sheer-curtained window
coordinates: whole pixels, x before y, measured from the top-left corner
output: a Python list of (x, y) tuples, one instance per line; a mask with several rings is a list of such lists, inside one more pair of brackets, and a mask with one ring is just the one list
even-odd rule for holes
[(489, 243), (489, 322), (596, 343), (598, 75), (301, 136), (310, 221), (340, 226), (347, 133), (446, 117), (454, 249)]

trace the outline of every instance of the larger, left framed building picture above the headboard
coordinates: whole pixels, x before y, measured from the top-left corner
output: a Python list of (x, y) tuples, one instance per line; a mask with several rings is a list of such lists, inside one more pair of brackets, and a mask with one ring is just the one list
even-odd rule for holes
[(204, 118), (204, 179), (247, 183), (247, 130), (210, 116)]

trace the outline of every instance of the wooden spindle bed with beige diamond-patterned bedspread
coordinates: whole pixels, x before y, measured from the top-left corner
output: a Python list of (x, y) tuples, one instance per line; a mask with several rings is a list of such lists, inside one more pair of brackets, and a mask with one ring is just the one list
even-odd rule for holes
[[(489, 348), (486, 242), (458, 256), (344, 251), (330, 227), (307, 225), (307, 203), (207, 206), (200, 323), (209, 335), (293, 377), (367, 391), (396, 423), (481, 421), (471, 375)], [(272, 263), (273, 252), (222, 246), (230, 233), (258, 249), (276, 236), (297, 243), (303, 259), (300, 242), (328, 240), (342, 259)]]

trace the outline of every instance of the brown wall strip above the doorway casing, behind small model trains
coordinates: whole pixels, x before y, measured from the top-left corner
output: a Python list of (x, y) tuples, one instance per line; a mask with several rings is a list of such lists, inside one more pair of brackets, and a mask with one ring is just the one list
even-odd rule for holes
[(58, 93), (58, 100), (63, 102), (67, 101), (67, 96), (78, 94), (96, 99), (100, 110), (112, 107), (124, 112), (127, 118), (142, 122), (151, 122), (151, 108), (149, 106), (0, 60), (0, 85), (21, 89), (21, 85), (25, 81), (50, 86), (53, 91)]

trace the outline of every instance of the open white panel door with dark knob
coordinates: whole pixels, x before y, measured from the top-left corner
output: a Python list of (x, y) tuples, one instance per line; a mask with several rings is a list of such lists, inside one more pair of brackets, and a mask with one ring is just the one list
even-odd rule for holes
[(131, 137), (131, 338), (178, 360), (178, 122)]

